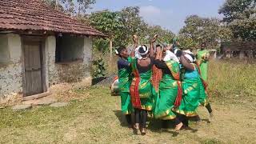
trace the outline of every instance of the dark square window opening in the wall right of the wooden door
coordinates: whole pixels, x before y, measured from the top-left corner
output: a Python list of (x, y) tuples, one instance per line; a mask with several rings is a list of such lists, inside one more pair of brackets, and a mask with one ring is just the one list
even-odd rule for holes
[(55, 62), (83, 60), (84, 38), (69, 35), (56, 36)]

